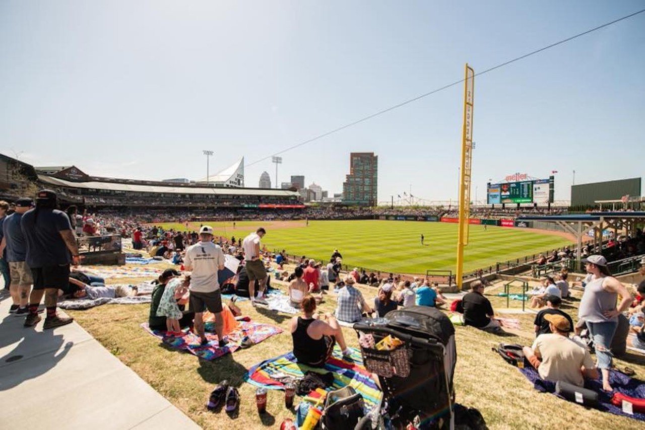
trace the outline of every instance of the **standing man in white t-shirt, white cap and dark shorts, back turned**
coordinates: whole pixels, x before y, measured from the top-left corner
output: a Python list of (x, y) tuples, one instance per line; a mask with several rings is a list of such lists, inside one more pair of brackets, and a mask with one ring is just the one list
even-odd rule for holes
[(195, 333), (201, 338), (202, 344), (208, 340), (204, 335), (203, 313), (208, 309), (215, 315), (215, 333), (219, 346), (226, 346), (223, 334), (222, 295), (217, 281), (217, 271), (224, 269), (224, 253), (219, 245), (213, 243), (213, 228), (202, 226), (199, 229), (196, 244), (186, 249), (184, 268), (191, 271), (190, 275), (190, 308), (195, 312)]

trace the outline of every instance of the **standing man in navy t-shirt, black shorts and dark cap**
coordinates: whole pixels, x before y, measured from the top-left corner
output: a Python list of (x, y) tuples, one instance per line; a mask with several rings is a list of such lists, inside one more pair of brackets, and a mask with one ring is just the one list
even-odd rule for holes
[(40, 190), (35, 208), (26, 211), (20, 220), (26, 242), (26, 264), (31, 268), (34, 279), (25, 327), (33, 327), (41, 320), (38, 305), (43, 294), (47, 308), (43, 328), (64, 326), (74, 320), (71, 317), (59, 317), (56, 313), (58, 290), (68, 286), (70, 264), (78, 266), (80, 262), (70, 219), (66, 213), (56, 209), (56, 204), (54, 191)]

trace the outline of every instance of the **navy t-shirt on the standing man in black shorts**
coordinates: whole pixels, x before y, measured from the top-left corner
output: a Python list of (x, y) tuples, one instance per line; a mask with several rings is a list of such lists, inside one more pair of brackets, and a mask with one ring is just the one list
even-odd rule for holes
[[(38, 217), (36, 217), (38, 211)], [(60, 231), (72, 230), (67, 214), (57, 209), (34, 208), (25, 212), (20, 222), (27, 243), (26, 263), (32, 269), (70, 264)]]

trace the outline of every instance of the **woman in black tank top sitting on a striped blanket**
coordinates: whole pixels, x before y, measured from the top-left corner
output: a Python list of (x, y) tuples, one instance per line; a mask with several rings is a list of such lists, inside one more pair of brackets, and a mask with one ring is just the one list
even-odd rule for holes
[[(303, 316), (292, 319), (291, 336), (293, 340), (293, 355), (299, 363), (308, 366), (322, 367), (328, 358), (332, 357), (333, 346), (338, 341), (343, 355), (350, 355), (350, 350), (345, 344), (342, 336), (341, 327), (333, 317), (328, 317), (328, 321), (320, 321), (313, 318), (316, 309), (315, 299), (307, 295), (302, 303)], [(321, 324), (323, 336), (319, 339), (312, 338), (307, 330), (314, 322)]]

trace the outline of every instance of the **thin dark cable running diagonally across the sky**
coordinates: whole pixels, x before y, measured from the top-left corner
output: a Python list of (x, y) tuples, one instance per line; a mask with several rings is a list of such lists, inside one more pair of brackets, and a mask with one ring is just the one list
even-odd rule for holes
[[(548, 46), (544, 46), (543, 48), (540, 48), (540, 49), (535, 50), (535, 51), (533, 51), (533, 52), (529, 52), (528, 54), (524, 54), (524, 55), (521, 55), (521, 56), (519, 56), (519, 57), (515, 57), (515, 58), (513, 58), (513, 59), (511, 59), (511, 60), (509, 60), (509, 61), (505, 61), (504, 63), (497, 64), (497, 66), (493, 66), (493, 67), (488, 68), (488, 69), (486, 69), (486, 70), (484, 70), (484, 71), (482, 71), (482, 72), (475, 73), (475, 76), (480, 76), (480, 75), (483, 75), (484, 73), (492, 72), (492, 71), (493, 71), (493, 70), (495, 70), (495, 69), (499, 69), (499, 68), (501, 68), (501, 67), (508, 66), (508, 64), (515, 63), (516, 61), (520, 61), (520, 60), (522, 60), (522, 59), (525, 59), (526, 57), (530, 57), (531, 55), (539, 54), (539, 53), (540, 53), (540, 52), (542, 52), (542, 51), (546, 51), (546, 50), (548, 50), (548, 49), (550, 49), (550, 48), (553, 48), (553, 47), (555, 47), (555, 46), (558, 46), (558, 45), (560, 45), (560, 44), (567, 43), (567, 42), (569, 42), (569, 41), (572, 41), (573, 39), (577, 39), (578, 37), (584, 36), (584, 35), (586, 35), (586, 34), (590, 34), (590, 33), (592, 33), (592, 32), (595, 32), (595, 31), (597, 31), (597, 30), (600, 30), (600, 28), (605, 28), (605, 27), (608, 27), (608, 26), (610, 26), (610, 25), (612, 25), (612, 24), (619, 23), (620, 21), (623, 21), (624, 19), (628, 19), (628, 18), (631, 18), (631, 17), (633, 17), (633, 16), (635, 16), (635, 15), (642, 14), (643, 12), (645, 12), (645, 9), (639, 10), (638, 12), (634, 12), (633, 14), (625, 15), (624, 17), (621, 17), (621, 18), (619, 18), (619, 19), (615, 19), (615, 20), (613, 20), (613, 21), (610, 21), (609, 23), (604, 23), (604, 24), (599, 25), (599, 26), (597, 26), (597, 27), (591, 28), (590, 30), (587, 30), (586, 32), (582, 32), (582, 33), (579, 33), (579, 34), (573, 35), (573, 36), (571, 36), (571, 37), (567, 37), (566, 39), (562, 39), (562, 40), (561, 40), (561, 41), (559, 41), (559, 42), (552, 43), (552, 44), (550, 44), (550, 45), (548, 45)], [(444, 85), (444, 86), (442, 86), (442, 87), (440, 87), (440, 88), (437, 88), (436, 90), (432, 90), (432, 91), (430, 91), (430, 92), (423, 93), (423, 94), (421, 94), (421, 95), (417, 95), (417, 97), (413, 97), (412, 99), (408, 99), (408, 100), (406, 100), (406, 101), (404, 101), (404, 102), (401, 102), (401, 103), (399, 103), (399, 104), (395, 104), (394, 106), (390, 106), (389, 108), (386, 108), (386, 109), (383, 109), (383, 110), (379, 110), (379, 112), (375, 112), (375, 113), (372, 113), (371, 115), (368, 115), (368, 116), (366, 116), (366, 117), (362, 117), (361, 119), (358, 119), (357, 121), (353, 121), (353, 122), (350, 122), (350, 123), (348, 123), (348, 124), (345, 124), (344, 126), (340, 126), (340, 127), (338, 127), (338, 128), (334, 128), (333, 130), (330, 130), (330, 131), (328, 131), (328, 132), (324, 132), (324, 133), (319, 134), (319, 135), (317, 135), (317, 136), (315, 136), (315, 137), (312, 137), (312, 139), (307, 139), (307, 140), (306, 140), (306, 141), (304, 141), (304, 142), (300, 142), (300, 143), (295, 144), (295, 145), (293, 145), (293, 146), (289, 146), (288, 148), (284, 148), (284, 150), (277, 151), (277, 152), (275, 152), (275, 153), (272, 153), (271, 155), (267, 155), (267, 156), (266, 156), (266, 157), (264, 157), (264, 158), (261, 158), (261, 159), (259, 159), (259, 160), (253, 161), (253, 162), (252, 162), (252, 163), (250, 163), (250, 164), (246, 164), (246, 167), (253, 166), (253, 164), (257, 164), (257, 163), (262, 162), (262, 161), (264, 161), (264, 160), (270, 159), (271, 157), (273, 157), (273, 156), (275, 156), (275, 155), (280, 155), (281, 153), (285, 153), (286, 151), (290, 151), (290, 150), (293, 150), (293, 149), (295, 149), (295, 148), (299, 148), (300, 146), (303, 146), (303, 145), (306, 145), (306, 144), (308, 144), (308, 143), (311, 143), (311, 142), (317, 141), (317, 140), (319, 140), (319, 139), (323, 139), (323, 137), (326, 137), (326, 136), (331, 135), (331, 134), (333, 134), (333, 133), (340, 132), (341, 130), (344, 130), (344, 129), (346, 129), (346, 128), (350, 128), (350, 127), (352, 127), (352, 126), (355, 126), (356, 124), (360, 124), (361, 122), (368, 121), (369, 119), (372, 119), (373, 117), (377, 117), (377, 116), (379, 116), (379, 115), (382, 115), (383, 113), (390, 112), (391, 110), (395, 110), (395, 109), (401, 108), (402, 106), (405, 106), (406, 104), (410, 104), (410, 103), (413, 103), (413, 102), (415, 102), (415, 101), (417, 101), (417, 100), (419, 100), (419, 99), (423, 99), (424, 97), (428, 97), (428, 95), (433, 95), (433, 94), (438, 93), (438, 92), (440, 92), (440, 91), (447, 90), (448, 88), (450, 88), (450, 87), (452, 87), (452, 86), (455, 86), (455, 85), (457, 85), (457, 84), (461, 84), (462, 82), (464, 82), (464, 79), (463, 79), (463, 78), (462, 78), (462, 79), (459, 79), (459, 81), (455, 81), (455, 82), (453, 82), (453, 83), (450, 83), (450, 84)]]

